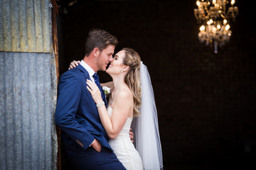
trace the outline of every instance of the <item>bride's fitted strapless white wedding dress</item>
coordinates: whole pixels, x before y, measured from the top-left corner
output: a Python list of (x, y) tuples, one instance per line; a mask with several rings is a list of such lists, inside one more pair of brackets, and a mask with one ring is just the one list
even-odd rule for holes
[[(107, 113), (112, 115), (113, 109), (109, 106)], [(124, 165), (127, 170), (143, 170), (142, 158), (135, 149), (130, 137), (129, 129), (131, 127), (132, 118), (127, 118), (124, 128), (114, 140), (109, 140), (110, 147), (117, 155), (117, 159)]]

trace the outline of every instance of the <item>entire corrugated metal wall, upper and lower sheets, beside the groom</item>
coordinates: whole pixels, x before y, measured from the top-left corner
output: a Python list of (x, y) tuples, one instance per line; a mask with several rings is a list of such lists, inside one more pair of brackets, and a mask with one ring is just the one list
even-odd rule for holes
[(0, 169), (56, 169), (48, 0), (0, 0)]

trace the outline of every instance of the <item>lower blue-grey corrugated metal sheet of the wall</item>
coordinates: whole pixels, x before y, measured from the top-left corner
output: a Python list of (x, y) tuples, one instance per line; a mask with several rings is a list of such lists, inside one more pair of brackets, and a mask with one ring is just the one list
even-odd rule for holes
[(50, 53), (0, 56), (0, 167), (52, 169)]

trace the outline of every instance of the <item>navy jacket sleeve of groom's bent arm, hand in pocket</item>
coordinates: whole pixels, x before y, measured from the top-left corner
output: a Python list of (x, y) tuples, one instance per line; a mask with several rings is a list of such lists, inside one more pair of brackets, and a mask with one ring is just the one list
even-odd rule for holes
[(75, 119), (80, 103), (81, 88), (80, 79), (73, 72), (65, 72), (60, 77), (55, 123), (83, 149), (87, 149), (95, 137)]

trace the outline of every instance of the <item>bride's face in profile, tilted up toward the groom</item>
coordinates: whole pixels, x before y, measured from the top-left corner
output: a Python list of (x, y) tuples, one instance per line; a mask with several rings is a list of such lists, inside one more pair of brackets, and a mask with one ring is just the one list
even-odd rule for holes
[(107, 69), (108, 74), (121, 74), (122, 69), (124, 68), (123, 60), (125, 56), (125, 51), (121, 50), (114, 55), (114, 59), (110, 62), (110, 66)]

